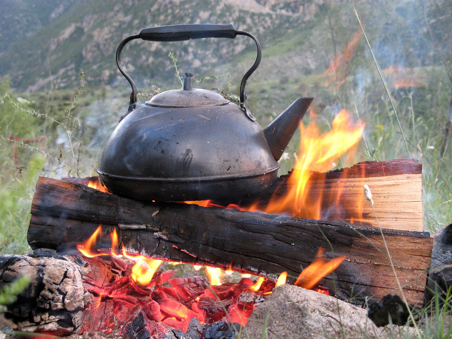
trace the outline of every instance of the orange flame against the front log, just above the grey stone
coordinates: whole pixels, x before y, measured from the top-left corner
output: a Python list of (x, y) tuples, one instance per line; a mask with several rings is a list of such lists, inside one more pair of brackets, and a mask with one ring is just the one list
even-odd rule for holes
[(321, 278), (334, 271), (345, 259), (344, 255), (327, 262), (322, 258), (322, 254), (323, 248), (320, 247), (311, 265), (306, 267), (298, 276), (294, 283), (295, 286), (304, 287), (308, 290), (312, 289)]

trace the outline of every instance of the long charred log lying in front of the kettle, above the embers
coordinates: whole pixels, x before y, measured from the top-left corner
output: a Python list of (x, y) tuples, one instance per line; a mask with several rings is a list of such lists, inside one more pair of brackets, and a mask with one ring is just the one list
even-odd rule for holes
[[(355, 301), (400, 293), (398, 279), (407, 300), (422, 304), (432, 250), (432, 239), (423, 232), (193, 204), (143, 204), (81, 184), (39, 179), (28, 229), (33, 249), (75, 249), (99, 224), (104, 234), (118, 229), (129, 253), (270, 278), (287, 271), (289, 282), (323, 247), (327, 258), (347, 256), (324, 279), (324, 286), (341, 299)], [(99, 246), (111, 246), (110, 238)]]

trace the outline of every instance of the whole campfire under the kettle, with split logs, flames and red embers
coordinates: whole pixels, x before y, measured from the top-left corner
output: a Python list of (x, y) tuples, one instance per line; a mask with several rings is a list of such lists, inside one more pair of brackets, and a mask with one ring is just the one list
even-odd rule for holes
[[(98, 177), (41, 177), (28, 242), (81, 267), (81, 290), (88, 297), (81, 298), (86, 301), (73, 327), (29, 328), (50, 327), (52, 334), (119, 331), (134, 339), (161, 338), (172, 330), (199, 338), (206, 331), (221, 333), (227, 324), (246, 325), (254, 307), (284, 283), (361, 306), (366, 298), (398, 290), (386, 250), (405, 282), (406, 299), (422, 305), (432, 240), (419, 215), (404, 210), (416, 212), (420, 201), (422, 217), (421, 167), (396, 159), (331, 171), (362, 131), (345, 111), (330, 132), (301, 128), (294, 170), (252, 203), (143, 203), (109, 193)], [(309, 148), (322, 145), (333, 147)], [(373, 206), (363, 184), (372, 189)], [(400, 192), (406, 187), (411, 189)], [(181, 264), (191, 264), (191, 273), (179, 276)], [(205, 276), (196, 271), (202, 267)]]

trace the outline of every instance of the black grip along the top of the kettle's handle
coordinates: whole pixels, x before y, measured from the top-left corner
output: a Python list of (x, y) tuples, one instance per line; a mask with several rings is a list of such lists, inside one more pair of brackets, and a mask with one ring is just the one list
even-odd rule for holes
[(185, 24), (143, 28), (140, 38), (148, 41), (183, 41), (200, 38), (234, 39), (234, 25)]

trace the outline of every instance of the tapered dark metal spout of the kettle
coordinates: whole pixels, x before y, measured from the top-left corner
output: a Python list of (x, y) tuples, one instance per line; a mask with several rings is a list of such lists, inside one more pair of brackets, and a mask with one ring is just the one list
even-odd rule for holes
[(313, 97), (298, 98), (278, 118), (264, 128), (265, 139), (276, 161), (284, 153), (313, 99)]

